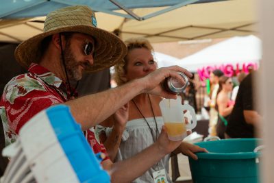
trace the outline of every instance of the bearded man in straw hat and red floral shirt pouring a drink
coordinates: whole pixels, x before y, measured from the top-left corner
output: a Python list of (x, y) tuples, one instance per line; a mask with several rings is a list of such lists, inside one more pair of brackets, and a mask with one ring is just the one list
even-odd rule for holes
[[(95, 141), (90, 127), (140, 93), (175, 98), (176, 95), (162, 90), (160, 82), (170, 76), (184, 82), (177, 71), (191, 76), (179, 66), (170, 66), (123, 86), (75, 99), (70, 81), (80, 80), (84, 70), (95, 72), (113, 66), (126, 52), (125, 44), (118, 37), (97, 28), (95, 14), (87, 6), (66, 7), (49, 13), (44, 32), (25, 40), (15, 51), (16, 60), (29, 72), (14, 77), (1, 97), (0, 114), (6, 144), (16, 140), (21, 127), (34, 114), (56, 103), (64, 103), (70, 106), (73, 117), (86, 131), (95, 153), (103, 151), (103, 145)], [(130, 182), (179, 144), (181, 142), (169, 141), (163, 130), (158, 141), (137, 156), (115, 164), (105, 158), (102, 164), (105, 169), (112, 168), (113, 182)]]

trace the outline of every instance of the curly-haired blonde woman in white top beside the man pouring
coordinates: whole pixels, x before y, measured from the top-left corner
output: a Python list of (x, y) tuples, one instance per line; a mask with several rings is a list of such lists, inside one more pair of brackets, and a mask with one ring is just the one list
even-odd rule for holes
[[(132, 82), (136, 78), (145, 77), (157, 70), (157, 64), (152, 55), (153, 48), (148, 40), (145, 38), (132, 38), (126, 40), (125, 44), (127, 45), (127, 55), (122, 62), (115, 65), (114, 79), (119, 86)], [(116, 112), (114, 123), (108, 121), (108, 124), (105, 124), (110, 127), (113, 125), (113, 130), (116, 132), (118, 132), (116, 130), (118, 128), (116, 127), (117, 124), (125, 124), (123, 133), (117, 134), (117, 138), (120, 140), (119, 143), (113, 143), (115, 138), (110, 134), (111, 129), (104, 129), (100, 135), (107, 151), (112, 154), (111, 156), (116, 162), (135, 156), (157, 141), (164, 125), (159, 106), (160, 101), (161, 97), (156, 95), (137, 95), (129, 101), (128, 119), (127, 114), (125, 114), (125, 110), (127, 110), (125, 106)], [(197, 159), (194, 153), (198, 151), (206, 151), (206, 149), (182, 142), (173, 153), (182, 152)], [(167, 182), (171, 182), (168, 174), (169, 157), (170, 155), (166, 155), (155, 162), (148, 171), (133, 182), (155, 182), (155, 177), (159, 173)]]

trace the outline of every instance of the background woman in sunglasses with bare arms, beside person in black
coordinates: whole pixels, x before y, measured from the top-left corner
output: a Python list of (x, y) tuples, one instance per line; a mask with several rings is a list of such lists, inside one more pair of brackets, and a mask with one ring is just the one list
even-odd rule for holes
[(216, 110), (218, 111), (218, 121), (216, 124), (216, 134), (220, 138), (225, 138), (225, 129), (229, 114), (232, 112), (234, 101), (230, 100), (233, 82), (231, 77), (223, 75), (219, 79), (219, 90), (216, 98)]

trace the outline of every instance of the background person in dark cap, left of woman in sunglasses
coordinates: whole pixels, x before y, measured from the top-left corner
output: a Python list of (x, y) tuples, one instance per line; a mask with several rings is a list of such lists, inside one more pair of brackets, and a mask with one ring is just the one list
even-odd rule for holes
[(216, 97), (219, 89), (219, 77), (223, 76), (223, 71), (216, 69), (210, 73), (210, 100), (208, 106), (210, 106), (210, 121), (208, 132), (210, 136), (216, 136), (216, 123), (218, 121), (218, 112), (216, 111)]

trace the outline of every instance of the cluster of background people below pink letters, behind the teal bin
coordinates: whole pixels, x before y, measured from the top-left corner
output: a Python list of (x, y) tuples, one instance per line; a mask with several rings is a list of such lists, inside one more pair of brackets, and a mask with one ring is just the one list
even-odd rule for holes
[(258, 71), (248, 75), (238, 73), (238, 84), (234, 86), (232, 77), (216, 69), (210, 73), (210, 122), (209, 135), (219, 138), (254, 138), (262, 120), (254, 102), (256, 85), (253, 77)]

